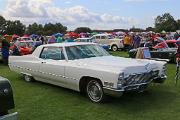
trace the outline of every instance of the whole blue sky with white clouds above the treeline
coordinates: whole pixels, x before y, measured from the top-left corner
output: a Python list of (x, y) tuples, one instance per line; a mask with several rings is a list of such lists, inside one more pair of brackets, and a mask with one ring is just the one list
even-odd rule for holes
[(29, 25), (60, 22), (68, 30), (154, 27), (158, 15), (180, 19), (180, 0), (0, 0), (0, 15)]

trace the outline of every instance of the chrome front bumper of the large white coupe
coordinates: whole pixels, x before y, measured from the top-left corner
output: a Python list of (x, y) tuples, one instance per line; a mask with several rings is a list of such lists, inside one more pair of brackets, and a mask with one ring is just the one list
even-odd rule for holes
[(138, 91), (138, 92), (144, 91), (150, 85), (151, 82), (162, 83), (165, 81), (166, 78), (167, 78), (166, 76), (161, 76), (146, 83), (127, 85), (119, 89), (103, 87), (103, 90), (104, 90), (104, 93), (107, 95), (110, 95), (113, 97), (120, 97), (123, 95), (124, 92), (127, 92), (127, 91)]

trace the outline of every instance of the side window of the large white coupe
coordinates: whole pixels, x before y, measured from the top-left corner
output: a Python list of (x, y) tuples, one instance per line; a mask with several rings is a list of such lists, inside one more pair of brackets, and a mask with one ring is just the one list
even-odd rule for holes
[(59, 47), (45, 47), (40, 55), (42, 59), (64, 60), (63, 49)]

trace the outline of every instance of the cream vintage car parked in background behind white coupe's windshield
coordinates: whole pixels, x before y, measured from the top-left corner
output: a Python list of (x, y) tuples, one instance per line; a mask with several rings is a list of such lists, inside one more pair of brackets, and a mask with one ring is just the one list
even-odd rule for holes
[(93, 38), (98, 44), (109, 45), (112, 51), (124, 48), (123, 39), (114, 38), (111, 34), (97, 34), (94, 35)]

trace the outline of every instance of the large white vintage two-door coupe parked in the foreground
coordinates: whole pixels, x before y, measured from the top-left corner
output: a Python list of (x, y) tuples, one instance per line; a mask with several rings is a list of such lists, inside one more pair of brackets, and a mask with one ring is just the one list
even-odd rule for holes
[(34, 78), (85, 92), (93, 102), (164, 81), (165, 64), (111, 56), (98, 44), (83, 42), (41, 45), (31, 55), (9, 57), (10, 69), (23, 74), (26, 81)]

